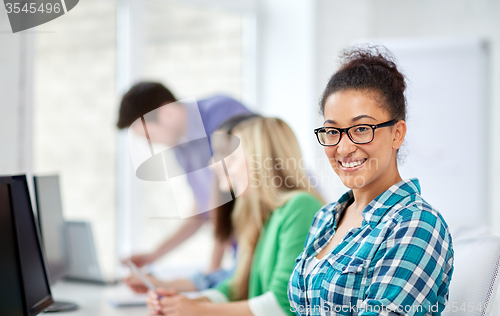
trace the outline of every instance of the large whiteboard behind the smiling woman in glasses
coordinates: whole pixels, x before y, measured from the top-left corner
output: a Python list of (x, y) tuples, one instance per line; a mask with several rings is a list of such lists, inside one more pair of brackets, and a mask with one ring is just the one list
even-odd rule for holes
[[(372, 41), (373, 42), (373, 41)], [(486, 225), (488, 175), (487, 45), (481, 40), (377, 41), (408, 79), (403, 179), (451, 228)]]

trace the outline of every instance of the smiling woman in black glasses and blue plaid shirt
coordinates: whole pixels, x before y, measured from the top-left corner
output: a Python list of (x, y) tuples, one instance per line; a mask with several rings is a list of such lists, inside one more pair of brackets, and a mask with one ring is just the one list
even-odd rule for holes
[(405, 78), (390, 53), (345, 54), (321, 98), (319, 143), (350, 188), (315, 216), (288, 285), (297, 315), (440, 315), (453, 272), (449, 229), (403, 180)]

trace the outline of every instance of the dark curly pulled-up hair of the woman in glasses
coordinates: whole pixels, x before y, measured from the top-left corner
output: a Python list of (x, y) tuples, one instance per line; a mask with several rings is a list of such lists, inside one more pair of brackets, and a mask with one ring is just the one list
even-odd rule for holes
[(406, 119), (405, 77), (397, 69), (395, 58), (383, 46), (358, 46), (343, 52), (342, 65), (328, 81), (320, 101), (324, 114), (325, 104), (332, 94), (348, 90), (376, 91), (382, 106), (391, 118)]

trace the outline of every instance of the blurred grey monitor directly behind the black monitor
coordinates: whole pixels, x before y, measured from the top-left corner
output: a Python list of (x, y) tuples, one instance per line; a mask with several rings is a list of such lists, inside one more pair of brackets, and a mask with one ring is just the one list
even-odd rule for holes
[(35, 196), (50, 283), (54, 284), (69, 270), (68, 232), (62, 211), (59, 176), (36, 176)]

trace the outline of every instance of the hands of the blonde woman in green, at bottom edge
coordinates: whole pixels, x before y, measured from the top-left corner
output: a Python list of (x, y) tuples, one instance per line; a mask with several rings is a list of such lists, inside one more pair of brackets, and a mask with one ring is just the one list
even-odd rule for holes
[(206, 298), (192, 300), (176, 291), (158, 289), (157, 293), (149, 292), (147, 304), (151, 315), (198, 316), (206, 310), (207, 302)]

